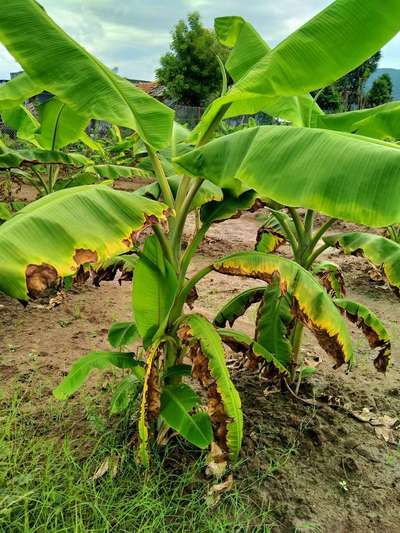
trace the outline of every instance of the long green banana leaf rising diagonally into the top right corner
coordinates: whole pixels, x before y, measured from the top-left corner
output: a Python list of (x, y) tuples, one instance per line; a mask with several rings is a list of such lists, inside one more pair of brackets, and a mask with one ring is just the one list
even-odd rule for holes
[[(234, 67), (237, 68), (239, 59), (246, 60), (249, 55), (257, 59), (261, 55), (260, 43), (253, 32), (247, 37), (247, 46), (240, 43), (238, 32), (241, 25), (237, 18), (233, 18), (231, 30), (226, 29), (229, 26), (226, 21), (222, 26), (221, 30), (217, 25), (217, 32), (222, 34), (223, 41), (240, 45), (235, 60), (232, 60)], [(365, 0), (362, 6), (359, 0), (332, 2), (270, 53), (260, 57), (225, 96), (213, 102), (195, 130), (197, 138), (219, 113), (223, 112), (225, 116), (255, 113), (263, 109), (263, 99), (264, 109), (272, 103), (270, 114), (292, 120), (282, 110), (274, 112), (274, 97), (299, 97), (332, 84), (380, 50), (399, 30), (400, 5), (397, 0), (389, 0), (384, 9), (381, 0)], [(255, 42), (257, 53), (249, 53), (247, 49), (254, 47)], [(311, 119), (318, 110), (310, 97), (299, 98), (298, 103), (304, 109), (301, 112), (303, 124), (298, 125), (308, 125), (307, 115)], [(286, 103), (293, 114), (293, 103), (281, 103), (283, 109)], [(226, 115), (223, 110), (229, 106), (229, 115)]]

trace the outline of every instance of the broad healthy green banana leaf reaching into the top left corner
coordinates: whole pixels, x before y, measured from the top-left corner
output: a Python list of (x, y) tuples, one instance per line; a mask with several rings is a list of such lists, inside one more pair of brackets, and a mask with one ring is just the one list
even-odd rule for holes
[(78, 115), (131, 128), (156, 149), (169, 144), (173, 111), (104, 66), (35, 0), (3, 0), (0, 42)]

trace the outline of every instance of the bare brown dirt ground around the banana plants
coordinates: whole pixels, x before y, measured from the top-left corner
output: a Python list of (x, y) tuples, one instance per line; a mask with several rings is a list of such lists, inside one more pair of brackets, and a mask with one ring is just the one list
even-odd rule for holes
[[(245, 214), (212, 228), (195, 266), (232, 251), (253, 249), (258, 227), (255, 217)], [(341, 224), (332, 229), (342, 230)], [(326, 258), (342, 266), (349, 296), (367, 304), (384, 320), (393, 336), (393, 366), (386, 375), (378, 374), (372, 363), (374, 354), (354, 331), (357, 365), (350, 374), (344, 368), (335, 371), (333, 361), (306, 336), (304, 355), (319, 357), (321, 363), (300, 395), (325, 403), (322, 407), (308, 406), (288, 392), (269, 389), (254, 374), (237, 371), (234, 379), (244, 406), (245, 441), (235, 479), (240, 485), (249, 474), (254, 477), (254, 501), (271, 507), (276, 532), (397, 532), (399, 432), (394, 430), (393, 443), (386, 442), (373, 425), (355, 419), (351, 412), (368, 408), (376, 418), (399, 416), (400, 301), (387, 287), (371, 281), (362, 258), (344, 257), (337, 251), (326, 253)], [(199, 284), (195, 310), (211, 318), (225, 300), (254, 284), (259, 282), (211, 274)], [(255, 310), (250, 309), (240, 320), (240, 328), (251, 332), (254, 317)], [(0, 296), (0, 379), (4, 390), (11, 394), (19, 387), (27, 398), (36, 399), (40, 418), (52, 388), (71, 363), (90, 350), (107, 348), (109, 325), (130, 318), (129, 283), (104, 283), (99, 289), (85, 286), (68, 293), (66, 300), (51, 310), (37, 303), (24, 308)], [(102, 381), (101, 374), (91, 378), (93, 394)], [(78, 431), (76, 418), (72, 418), (76, 411), (71, 409), (71, 418), (66, 412), (50, 433)], [(84, 418), (84, 413), (81, 416)]]

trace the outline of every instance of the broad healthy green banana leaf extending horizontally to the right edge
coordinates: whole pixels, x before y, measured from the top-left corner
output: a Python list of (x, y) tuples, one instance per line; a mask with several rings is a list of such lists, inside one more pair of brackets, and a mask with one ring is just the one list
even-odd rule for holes
[(241, 182), (283, 205), (369, 226), (400, 222), (400, 150), (376, 139), (261, 126), (215, 139), (175, 164), (222, 188)]

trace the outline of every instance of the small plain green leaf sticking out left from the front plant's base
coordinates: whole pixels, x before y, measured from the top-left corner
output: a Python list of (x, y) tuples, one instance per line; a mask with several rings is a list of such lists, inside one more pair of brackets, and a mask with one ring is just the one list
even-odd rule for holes
[(105, 370), (110, 366), (134, 369), (143, 366), (142, 361), (133, 358), (134, 355), (131, 352), (90, 352), (72, 365), (67, 377), (54, 389), (53, 394), (57, 400), (66, 400), (83, 385), (94, 369)]

